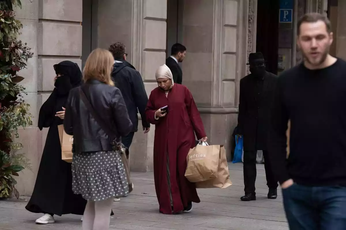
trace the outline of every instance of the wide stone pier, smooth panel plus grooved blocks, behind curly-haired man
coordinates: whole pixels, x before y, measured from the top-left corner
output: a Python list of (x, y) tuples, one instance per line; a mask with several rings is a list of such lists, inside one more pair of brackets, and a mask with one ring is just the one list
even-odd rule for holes
[[(123, 42), (128, 61), (142, 75), (149, 96), (157, 87), (155, 71), (166, 58), (167, 1), (99, 0), (97, 18), (98, 46), (108, 48), (114, 42)], [(151, 131), (144, 134), (139, 121), (130, 148), (131, 171), (153, 170), (154, 132), (152, 126)]]

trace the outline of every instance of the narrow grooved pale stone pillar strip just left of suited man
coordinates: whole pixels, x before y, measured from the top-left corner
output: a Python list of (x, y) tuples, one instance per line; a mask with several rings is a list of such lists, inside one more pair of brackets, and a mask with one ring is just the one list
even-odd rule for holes
[[(141, 73), (147, 94), (157, 87), (156, 69), (166, 59), (166, 0), (138, 0), (133, 5), (132, 62)], [(138, 123), (130, 149), (131, 171), (153, 171), (155, 126), (148, 134), (143, 133), (142, 122)]]

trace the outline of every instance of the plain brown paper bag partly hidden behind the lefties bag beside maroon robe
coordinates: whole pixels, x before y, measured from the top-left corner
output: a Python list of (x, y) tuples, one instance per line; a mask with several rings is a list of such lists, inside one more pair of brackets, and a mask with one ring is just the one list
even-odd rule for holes
[(210, 179), (207, 181), (197, 182), (196, 188), (206, 189), (206, 188), (221, 188), (225, 189), (232, 185), (229, 179), (228, 164), (226, 159), (226, 150), (224, 146), (220, 146), (219, 155), (219, 167), (217, 172), (217, 178)]

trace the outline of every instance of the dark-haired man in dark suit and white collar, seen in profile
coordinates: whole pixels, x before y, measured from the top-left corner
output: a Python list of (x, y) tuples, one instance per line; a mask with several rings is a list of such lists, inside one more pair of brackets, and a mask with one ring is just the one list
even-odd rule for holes
[(166, 59), (166, 65), (170, 68), (174, 83), (181, 84), (183, 81), (183, 71), (178, 62), (182, 62), (186, 55), (186, 47), (176, 43), (172, 46), (171, 56)]

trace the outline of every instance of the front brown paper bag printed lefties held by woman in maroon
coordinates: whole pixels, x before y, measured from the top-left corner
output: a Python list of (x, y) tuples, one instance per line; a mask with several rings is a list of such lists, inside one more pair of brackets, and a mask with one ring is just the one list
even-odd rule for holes
[(219, 167), (220, 146), (201, 145), (190, 149), (186, 161), (185, 177), (190, 182), (206, 181), (217, 177)]

